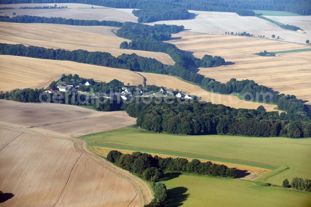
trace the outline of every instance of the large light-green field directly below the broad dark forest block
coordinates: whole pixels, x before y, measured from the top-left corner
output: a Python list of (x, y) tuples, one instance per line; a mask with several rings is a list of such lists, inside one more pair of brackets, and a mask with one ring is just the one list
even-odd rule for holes
[[(158, 134), (134, 128), (122, 128), (81, 139), (104, 145), (121, 145), (161, 152), (190, 154), (266, 166), (282, 166), (260, 177), (260, 181), (281, 185), (287, 178), (311, 178), (311, 139), (243, 136), (182, 136)], [(287, 167), (288, 166), (288, 167)], [(287, 168), (284, 171), (282, 169)], [(279, 172), (281, 171), (281, 172)]]

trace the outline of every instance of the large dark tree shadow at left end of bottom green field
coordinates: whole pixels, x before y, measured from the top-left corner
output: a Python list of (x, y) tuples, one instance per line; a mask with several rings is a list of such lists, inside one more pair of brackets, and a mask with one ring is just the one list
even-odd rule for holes
[(183, 205), (183, 202), (189, 197), (189, 193), (186, 194), (188, 188), (186, 187), (175, 187), (167, 190), (167, 200), (164, 206), (177, 207)]

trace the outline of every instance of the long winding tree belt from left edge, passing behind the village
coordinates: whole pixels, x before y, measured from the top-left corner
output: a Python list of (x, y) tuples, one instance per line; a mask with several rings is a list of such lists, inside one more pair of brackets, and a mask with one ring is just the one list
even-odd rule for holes
[[(122, 54), (115, 58), (110, 53), (88, 52), (81, 49), (67, 51), (63, 49), (48, 49), (35, 46), (26, 47), (21, 44), (0, 44), (0, 54), (52, 60), (69, 60), (106, 67), (130, 69), (133, 71), (156, 72), (160, 74), (179, 76), (182, 79), (196, 83), (207, 90), (214, 90), (214, 92), (222, 94), (248, 93), (248, 95), (244, 97), (246, 100), (251, 100), (252, 98), (257, 97), (260, 102), (269, 102), (272, 99), (273, 103), (277, 104), (279, 109), (287, 111), (287, 115), (290, 116), (292, 120), (303, 120), (304, 118), (308, 118), (308, 114), (306, 112), (307, 109), (304, 104), (299, 102), (293, 95), (273, 94), (258, 96), (258, 93), (267, 93), (269, 92), (269, 89), (266, 86), (258, 85), (254, 81), (250, 80), (237, 81), (236, 79), (231, 79), (226, 84), (219, 84), (215, 79), (193, 73), (185, 67), (179, 65), (163, 65), (156, 59), (144, 58), (137, 56), (135, 53), (131, 55)], [(205, 56), (205, 58), (200, 61), (208, 62), (208, 60), (215, 62), (214, 64), (217, 64), (217, 62), (223, 62), (221, 58), (216, 56), (213, 58), (211, 58), (211, 56)]]

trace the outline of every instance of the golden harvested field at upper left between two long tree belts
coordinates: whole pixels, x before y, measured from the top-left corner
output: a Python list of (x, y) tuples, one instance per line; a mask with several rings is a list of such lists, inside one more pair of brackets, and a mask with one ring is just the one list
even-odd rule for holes
[(155, 58), (163, 64), (174, 65), (174, 61), (166, 53), (120, 49), (122, 42), (130, 40), (117, 37), (111, 31), (115, 29), (118, 28), (0, 22), (0, 42), (65, 50), (100, 51), (111, 53), (115, 57), (123, 53), (136, 53), (146, 58)]

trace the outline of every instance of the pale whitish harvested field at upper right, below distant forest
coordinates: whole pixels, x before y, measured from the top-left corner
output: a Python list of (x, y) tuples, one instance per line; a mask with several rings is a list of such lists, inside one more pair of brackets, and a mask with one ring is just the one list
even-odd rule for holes
[[(212, 34), (225, 34), (225, 32), (234, 32), (235, 34), (236, 32), (239, 33), (245, 31), (255, 36), (265, 35), (266, 39), (272, 39), (272, 34), (275, 34), (276, 36), (280, 36), (284, 41), (303, 44), (305, 44), (306, 39), (309, 37), (309, 35), (306, 34), (281, 29), (279, 26), (256, 16), (239, 16), (236, 13), (217, 11), (189, 10), (189, 12), (191, 13), (192, 18), (188, 20), (157, 21), (148, 24), (183, 25), (185, 29), (188, 29), (191, 32)], [(292, 18), (296, 16), (289, 17)], [(290, 23), (287, 22), (285, 24)]]

